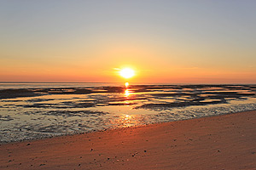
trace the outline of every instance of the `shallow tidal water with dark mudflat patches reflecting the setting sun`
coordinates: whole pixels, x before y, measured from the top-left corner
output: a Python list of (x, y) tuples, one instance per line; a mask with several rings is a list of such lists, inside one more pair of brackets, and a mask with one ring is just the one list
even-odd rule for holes
[(256, 85), (0, 83), (10, 142), (256, 110)]

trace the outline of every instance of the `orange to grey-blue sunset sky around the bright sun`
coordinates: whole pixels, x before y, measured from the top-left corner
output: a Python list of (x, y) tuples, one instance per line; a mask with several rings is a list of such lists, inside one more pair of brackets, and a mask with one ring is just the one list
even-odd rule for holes
[(256, 1), (0, 0), (0, 82), (127, 81), (256, 83)]

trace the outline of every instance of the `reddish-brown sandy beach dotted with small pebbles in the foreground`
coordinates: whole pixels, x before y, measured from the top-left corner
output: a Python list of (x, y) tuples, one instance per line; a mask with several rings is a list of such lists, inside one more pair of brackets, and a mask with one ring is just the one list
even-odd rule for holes
[(0, 169), (256, 169), (256, 111), (1, 144)]

